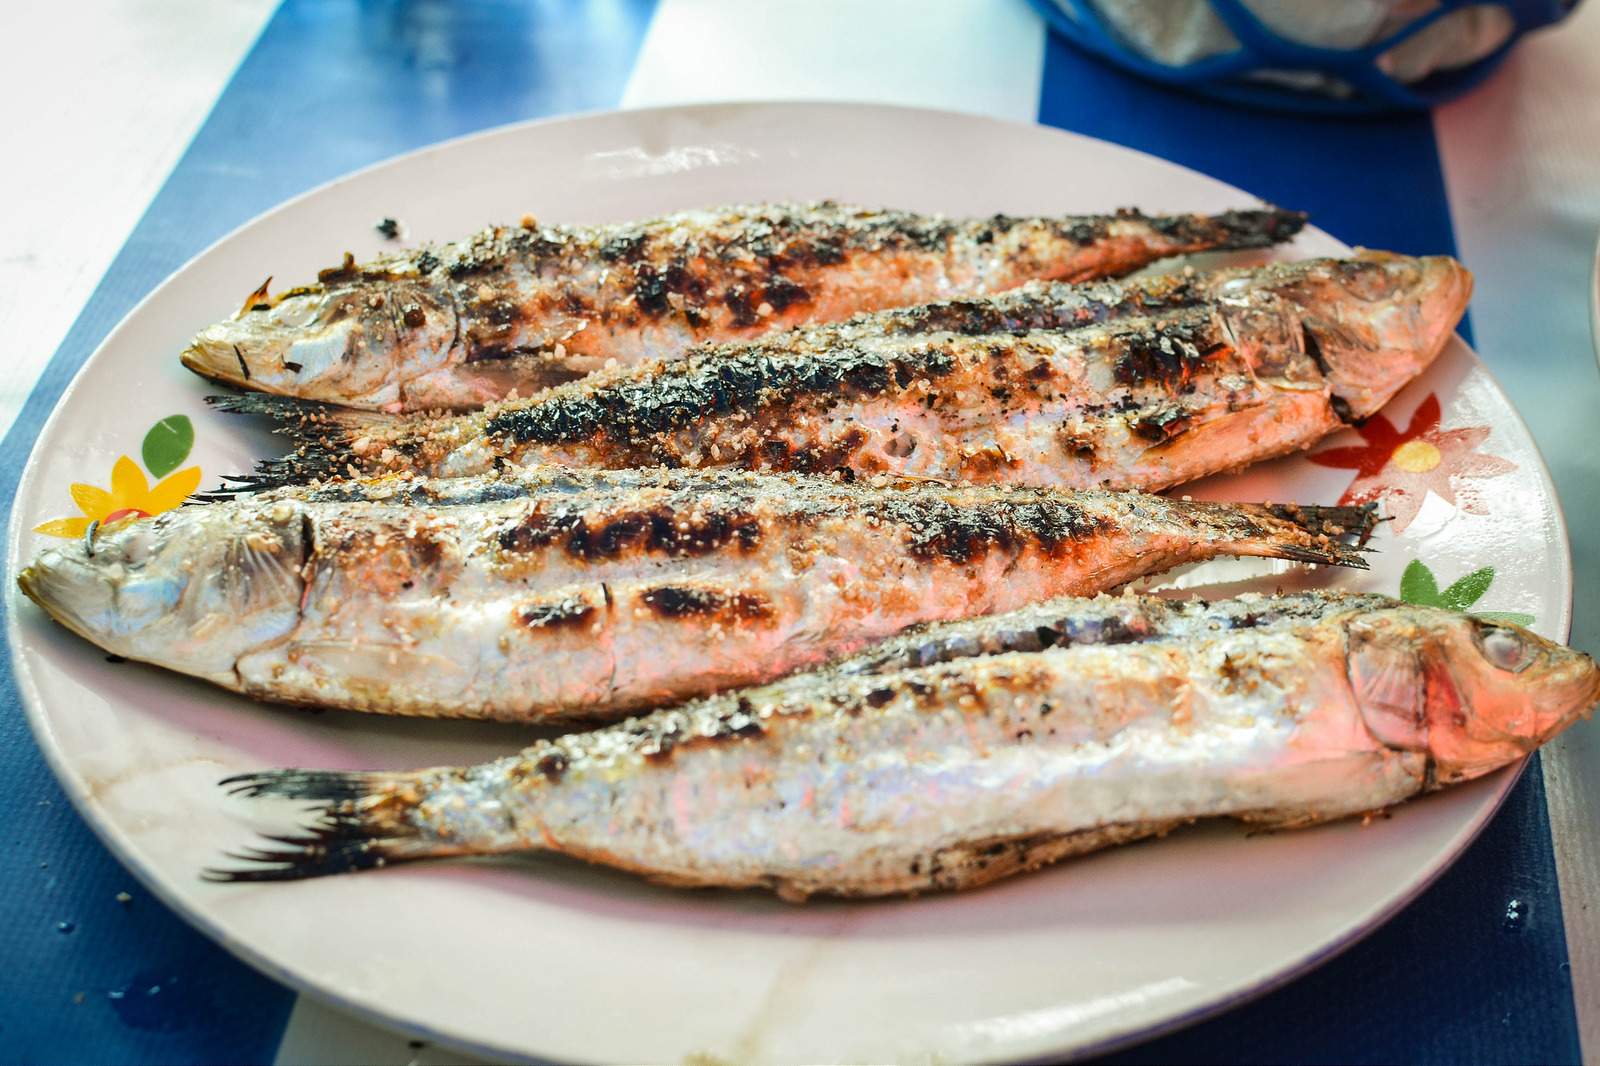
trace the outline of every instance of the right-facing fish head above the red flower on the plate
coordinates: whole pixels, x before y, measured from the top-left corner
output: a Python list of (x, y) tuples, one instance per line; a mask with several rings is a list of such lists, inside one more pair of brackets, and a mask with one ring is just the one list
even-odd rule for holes
[(1472, 274), (1450, 256), (1366, 250), (1274, 264), (1219, 290), (1226, 317), (1270, 309), (1277, 323), (1299, 320), (1299, 336), (1272, 339), (1317, 363), (1347, 421), (1376, 413), (1434, 362), (1470, 296)]

